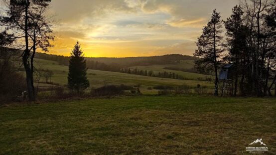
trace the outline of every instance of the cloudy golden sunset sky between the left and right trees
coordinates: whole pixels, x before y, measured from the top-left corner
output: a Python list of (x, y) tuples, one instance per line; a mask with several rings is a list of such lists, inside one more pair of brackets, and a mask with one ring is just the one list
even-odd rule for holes
[(81, 43), (87, 57), (192, 55), (213, 9), (222, 19), (239, 0), (52, 0), (54, 47), (70, 55)]

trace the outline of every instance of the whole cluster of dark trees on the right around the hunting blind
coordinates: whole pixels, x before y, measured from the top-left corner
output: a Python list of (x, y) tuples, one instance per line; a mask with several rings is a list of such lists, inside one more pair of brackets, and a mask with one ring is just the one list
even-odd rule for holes
[[(226, 63), (235, 66), (234, 95), (272, 95), (276, 83), (276, 0), (243, 0), (226, 21), (214, 10), (198, 38), (194, 56), (198, 70), (215, 72)], [(224, 33), (226, 32), (226, 33)]]

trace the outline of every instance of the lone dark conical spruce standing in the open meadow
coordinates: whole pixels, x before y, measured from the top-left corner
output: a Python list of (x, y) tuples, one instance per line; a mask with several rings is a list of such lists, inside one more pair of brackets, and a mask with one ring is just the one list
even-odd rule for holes
[(68, 88), (76, 90), (78, 93), (89, 87), (86, 77), (86, 60), (79, 42), (74, 46), (69, 61)]

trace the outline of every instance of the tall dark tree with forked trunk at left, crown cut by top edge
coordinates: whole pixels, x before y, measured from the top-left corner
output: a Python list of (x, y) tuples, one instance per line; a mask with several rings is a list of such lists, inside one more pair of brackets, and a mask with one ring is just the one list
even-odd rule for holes
[[(47, 51), (51, 46), (51, 24), (46, 17), (47, 8), (51, 0), (3, 0), (6, 12), (0, 16), (0, 25), (8, 32), (12, 32), (14, 39), (19, 42), (22, 52), (22, 63), (25, 68), (28, 97), (35, 101), (33, 86), (33, 60), (37, 48)], [(24, 41), (22, 41), (24, 40)]]

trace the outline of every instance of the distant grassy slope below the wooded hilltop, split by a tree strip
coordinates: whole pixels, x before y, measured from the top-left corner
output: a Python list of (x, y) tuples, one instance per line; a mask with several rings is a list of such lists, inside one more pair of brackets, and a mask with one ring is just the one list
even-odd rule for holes
[[(155, 74), (158, 74), (158, 72), (171, 72), (178, 75), (183, 76), (184, 78), (189, 79), (197, 79), (197, 78), (206, 78), (206, 75), (204, 74), (197, 74), (197, 73), (190, 73), (190, 72), (183, 72), (183, 71), (175, 71), (175, 70), (169, 70), (169, 69), (163, 69), (164, 67), (173, 67), (173, 68), (185, 68), (190, 69), (193, 68), (194, 62), (193, 60), (182, 60), (180, 64), (166, 64), (166, 65), (150, 65), (150, 66), (135, 66), (131, 68), (137, 68), (138, 70), (147, 70), (147, 71), (154, 71)], [(209, 76), (210, 77), (210, 76)]]

